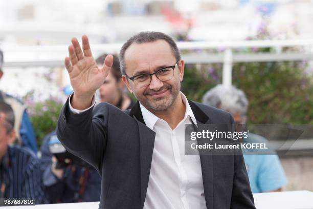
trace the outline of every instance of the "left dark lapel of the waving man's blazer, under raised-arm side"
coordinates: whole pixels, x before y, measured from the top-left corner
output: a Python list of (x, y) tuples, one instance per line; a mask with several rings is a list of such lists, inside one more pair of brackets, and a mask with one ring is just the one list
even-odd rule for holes
[(138, 123), (139, 144), (140, 144), (141, 208), (143, 208), (148, 189), (155, 132), (146, 127), (138, 101), (130, 110), (129, 115), (135, 118)]

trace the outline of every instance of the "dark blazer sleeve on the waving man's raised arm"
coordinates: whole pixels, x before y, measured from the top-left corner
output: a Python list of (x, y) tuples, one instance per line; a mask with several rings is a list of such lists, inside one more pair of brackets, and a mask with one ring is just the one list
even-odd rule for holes
[(107, 144), (107, 115), (105, 103), (75, 114), (70, 110), (68, 99), (62, 107), (56, 129), (66, 150), (93, 165), (100, 175)]

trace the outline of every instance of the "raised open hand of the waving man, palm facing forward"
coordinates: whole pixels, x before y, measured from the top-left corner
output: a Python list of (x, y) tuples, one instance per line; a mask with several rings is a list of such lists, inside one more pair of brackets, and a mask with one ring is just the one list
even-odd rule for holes
[(88, 37), (83, 35), (81, 39), (82, 49), (77, 38), (72, 38), (69, 57), (64, 60), (74, 90), (71, 105), (78, 110), (91, 106), (93, 95), (104, 82), (113, 64), (113, 56), (108, 55), (104, 59), (103, 67), (99, 68), (92, 55)]

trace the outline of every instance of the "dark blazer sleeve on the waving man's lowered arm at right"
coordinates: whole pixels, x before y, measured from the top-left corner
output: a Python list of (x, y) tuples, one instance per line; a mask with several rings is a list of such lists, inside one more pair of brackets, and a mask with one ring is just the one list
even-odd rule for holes
[[(231, 124), (235, 124), (230, 116)], [(244, 159), (241, 154), (234, 154), (234, 179), (232, 191), (232, 209), (255, 209), (254, 199), (250, 189), (250, 182), (247, 170), (245, 169)]]

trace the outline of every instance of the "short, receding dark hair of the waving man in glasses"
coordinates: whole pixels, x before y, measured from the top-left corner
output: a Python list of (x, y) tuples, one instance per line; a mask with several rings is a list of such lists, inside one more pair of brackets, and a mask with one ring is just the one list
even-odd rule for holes
[(154, 42), (157, 40), (165, 40), (170, 45), (170, 47), (172, 48), (173, 55), (175, 56), (176, 61), (179, 61), (181, 59), (180, 50), (178, 50), (175, 41), (170, 36), (168, 36), (162, 32), (153, 32), (153, 31), (152, 32), (140, 32), (140, 33), (132, 36), (131, 38), (129, 38), (121, 48), (121, 51), (119, 54), (121, 73), (123, 75), (126, 74), (126, 72), (125, 72), (126, 64), (125, 64), (125, 60), (124, 60), (124, 55), (125, 55), (125, 51), (128, 49), (128, 47), (132, 43), (142, 44), (142, 43)]

